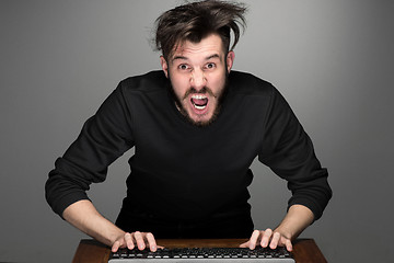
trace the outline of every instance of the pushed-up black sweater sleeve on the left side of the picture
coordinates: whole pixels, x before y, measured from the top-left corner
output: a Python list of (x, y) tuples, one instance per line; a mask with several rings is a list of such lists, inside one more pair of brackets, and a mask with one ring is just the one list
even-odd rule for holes
[(88, 199), (90, 184), (103, 182), (107, 167), (134, 146), (129, 119), (120, 83), (49, 172), (46, 199), (55, 213), (62, 216), (72, 203)]

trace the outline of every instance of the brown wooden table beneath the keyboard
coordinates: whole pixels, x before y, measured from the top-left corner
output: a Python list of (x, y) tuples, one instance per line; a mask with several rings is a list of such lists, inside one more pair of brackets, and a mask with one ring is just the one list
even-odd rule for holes
[[(236, 248), (246, 239), (158, 239), (165, 248)], [(326, 263), (313, 239), (298, 239), (293, 244), (297, 263)], [(111, 249), (95, 240), (82, 239), (72, 263), (108, 263)]]

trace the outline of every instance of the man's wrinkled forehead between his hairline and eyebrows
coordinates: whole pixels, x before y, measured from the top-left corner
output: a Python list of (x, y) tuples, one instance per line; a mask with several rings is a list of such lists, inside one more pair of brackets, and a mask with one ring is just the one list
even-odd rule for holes
[(219, 57), (222, 58), (223, 44), (222, 39), (218, 35), (209, 35), (202, 38), (198, 43), (193, 43), (185, 41), (184, 43), (176, 46), (174, 49), (171, 60), (176, 59), (202, 59), (208, 57)]

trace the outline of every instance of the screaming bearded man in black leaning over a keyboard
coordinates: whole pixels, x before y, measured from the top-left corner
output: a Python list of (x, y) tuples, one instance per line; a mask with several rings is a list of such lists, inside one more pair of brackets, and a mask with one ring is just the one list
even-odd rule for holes
[[(241, 247), (292, 250), (291, 240), (321, 217), (332, 192), (279, 92), (231, 71), (244, 12), (241, 4), (201, 1), (158, 19), (162, 71), (121, 81), (56, 161), (46, 197), (57, 214), (113, 251), (155, 251), (155, 238), (250, 238)], [(114, 225), (85, 191), (131, 147), (127, 196)], [(255, 157), (292, 192), (274, 230), (253, 230), (247, 186)]]

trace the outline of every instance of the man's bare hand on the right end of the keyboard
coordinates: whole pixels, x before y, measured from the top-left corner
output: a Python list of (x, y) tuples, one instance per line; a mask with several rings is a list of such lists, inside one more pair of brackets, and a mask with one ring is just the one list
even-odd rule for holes
[(251, 239), (247, 242), (242, 243), (240, 248), (250, 248), (253, 250), (256, 248), (256, 245), (267, 248), (268, 244), (271, 249), (276, 249), (279, 245), (286, 247), (288, 251), (292, 251), (292, 243), (290, 238), (287, 238), (279, 231), (273, 231), (269, 228), (267, 228), (265, 231), (254, 230)]

